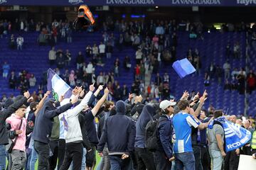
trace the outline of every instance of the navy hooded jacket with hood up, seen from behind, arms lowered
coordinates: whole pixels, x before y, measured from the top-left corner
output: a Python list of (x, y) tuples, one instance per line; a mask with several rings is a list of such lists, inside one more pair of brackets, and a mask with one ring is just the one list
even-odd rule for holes
[(102, 152), (107, 142), (109, 155), (130, 154), (134, 150), (135, 123), (125, 115), (125, 103), (117, 101), (117, 114), (107, 118), (97, 150)]

